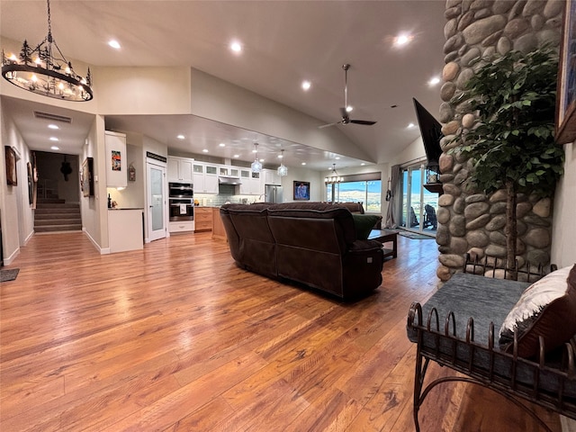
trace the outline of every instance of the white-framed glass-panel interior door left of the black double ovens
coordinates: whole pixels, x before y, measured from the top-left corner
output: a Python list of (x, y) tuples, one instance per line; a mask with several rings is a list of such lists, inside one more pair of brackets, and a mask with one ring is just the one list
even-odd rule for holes
[(166, 237), (166, 167), (147, 163), (148, 241)]

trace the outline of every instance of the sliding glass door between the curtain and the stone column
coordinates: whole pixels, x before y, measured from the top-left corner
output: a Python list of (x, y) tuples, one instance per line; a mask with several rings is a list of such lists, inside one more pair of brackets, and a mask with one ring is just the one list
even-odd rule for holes
[(424, 187), (424, 166), (409, 166), (402, 170), (401, 227), (436, 235), (438, 193)]

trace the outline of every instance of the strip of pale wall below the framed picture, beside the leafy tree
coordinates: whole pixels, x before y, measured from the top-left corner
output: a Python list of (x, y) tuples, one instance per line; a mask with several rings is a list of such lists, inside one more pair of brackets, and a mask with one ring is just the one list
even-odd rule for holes
[(564, 145), (564, 175), (556, 188), (551, 262), (559, 268), (576, 263), (576, 141)]

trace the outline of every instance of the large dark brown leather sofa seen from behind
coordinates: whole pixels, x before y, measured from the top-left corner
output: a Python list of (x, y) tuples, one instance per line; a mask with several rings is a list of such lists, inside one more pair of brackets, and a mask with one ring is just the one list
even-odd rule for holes
[(220, 208), (237, 265), (260, 275), (355, 299), (382, 284), (383, 251), (356, 239), (352, 213), (338, 204), (226, 204)]

